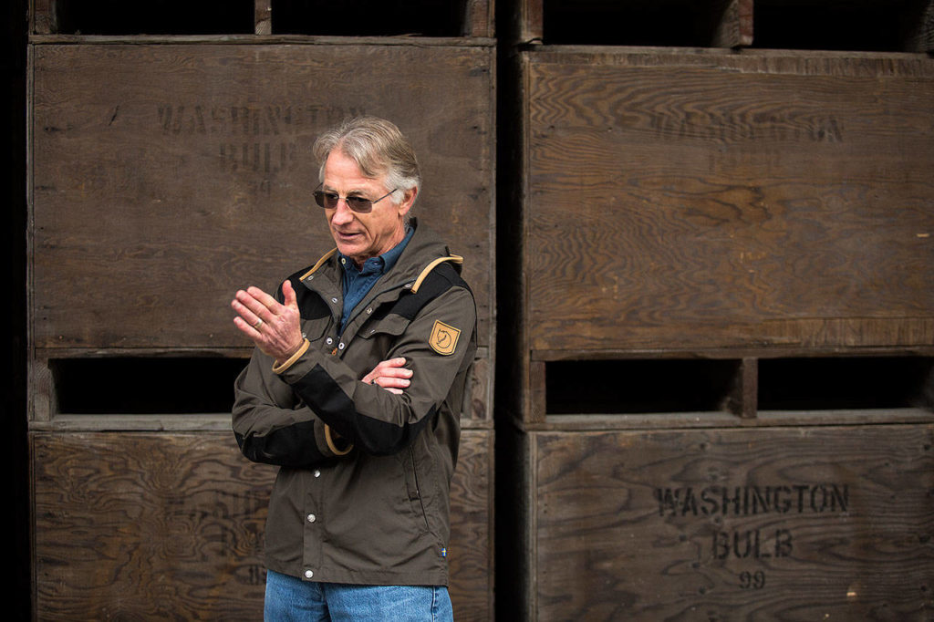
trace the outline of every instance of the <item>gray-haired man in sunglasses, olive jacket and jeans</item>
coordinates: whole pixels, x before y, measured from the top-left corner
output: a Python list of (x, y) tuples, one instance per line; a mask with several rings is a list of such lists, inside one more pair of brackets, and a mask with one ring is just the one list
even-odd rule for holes
[(336, 248), (276, 296), (236, 292), (256, 344), (233, 431), (278, 465), (266, 522), (267, 620), (452, 619), (450, 479), (476, 350), (460, 257), (416, 219), (415, 152), (349, 120), (315, 144)]

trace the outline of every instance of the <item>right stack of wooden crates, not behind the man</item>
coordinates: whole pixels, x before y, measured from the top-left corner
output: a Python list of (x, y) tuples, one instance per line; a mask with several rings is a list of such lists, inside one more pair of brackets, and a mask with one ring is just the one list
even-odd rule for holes
[(818, 4), (514, 7), (511, 615), (934, 615), (934, 13)]

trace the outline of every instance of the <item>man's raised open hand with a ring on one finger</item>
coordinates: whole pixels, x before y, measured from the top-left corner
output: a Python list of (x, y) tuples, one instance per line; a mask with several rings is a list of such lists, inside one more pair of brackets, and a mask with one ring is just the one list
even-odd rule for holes
[(233, 323), (277, 364), (288, 360), (304, 343), (301, 316), (295, 290), (286, 280), (282, 284), (284, 304), (259, 288), (238, 290), (231, 302), (238, 317)]

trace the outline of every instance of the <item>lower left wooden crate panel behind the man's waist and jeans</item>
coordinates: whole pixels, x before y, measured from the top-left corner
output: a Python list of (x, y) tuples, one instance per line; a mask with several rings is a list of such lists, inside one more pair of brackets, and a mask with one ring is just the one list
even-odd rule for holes
[[(35, 615), (262, 618), (271, 467), (232, 433), (34, 433)], [(492, 607), (492, 432), (464, 431), (451, 493), (458, 619)]]

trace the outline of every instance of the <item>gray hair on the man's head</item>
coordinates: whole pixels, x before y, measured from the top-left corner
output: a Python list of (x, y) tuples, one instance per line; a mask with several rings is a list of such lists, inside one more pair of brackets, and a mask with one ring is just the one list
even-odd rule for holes
[[(403, 192), (421, 188), (421, 172), (415, 149), (395, 123), (378, 117), (355, 117), (318, 136), (313, 152), (318, 161), (318, 181), (324, 181), (324, 164), (339, 149), (360, 166), (365, 177), (386, 177), (386, 190), (395, 189), (398, 204)], [(417, 194), (416, 194), (417, 197)]]

